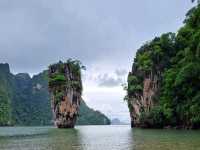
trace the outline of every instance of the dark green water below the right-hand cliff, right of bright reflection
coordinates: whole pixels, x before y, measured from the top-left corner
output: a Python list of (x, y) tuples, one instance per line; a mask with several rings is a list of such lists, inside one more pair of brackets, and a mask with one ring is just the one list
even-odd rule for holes
[(133, 129), (134, 150), (200, 150), (200, 131)]

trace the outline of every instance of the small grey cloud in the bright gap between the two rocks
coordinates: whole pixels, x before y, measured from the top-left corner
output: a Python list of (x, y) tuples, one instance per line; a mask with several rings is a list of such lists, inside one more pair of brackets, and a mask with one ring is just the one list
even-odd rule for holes
[(121, 78), (113, 78), (112, 76), (109, 76), (108, 74), (99, 75), (98, 77), (98, 85), (103, 87), (115, 87), (122, 84)]

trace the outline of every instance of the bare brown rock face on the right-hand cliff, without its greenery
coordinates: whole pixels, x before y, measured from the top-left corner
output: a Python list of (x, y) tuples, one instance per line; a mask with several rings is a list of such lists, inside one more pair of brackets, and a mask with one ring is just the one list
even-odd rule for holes
[[(134, 76), (137, 74), (136, 70), (129, 73), (130, 76)], [(131, 116), (131, 126), (139, 127), (141, 113), (148, 113), (151, 108), (153, 108), (156, 103), (155, 97), (159, 93), (159, 80), (157, 75), (148, 75), (144, 77), (142, 83), (142, 90), (135, 93), (135, 95), (131, 95), (129, 98), (129, 109)]]

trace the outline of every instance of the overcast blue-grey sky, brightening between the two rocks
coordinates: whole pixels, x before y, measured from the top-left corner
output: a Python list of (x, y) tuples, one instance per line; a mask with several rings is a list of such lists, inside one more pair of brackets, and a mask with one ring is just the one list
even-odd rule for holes
[(137, 49), (176, 32), (190, 0), (0, 0), (0, 62), (37, 74), (51, 63), (79, 59), (83, 98), (108, 117), (129, 122), (121, 84)]

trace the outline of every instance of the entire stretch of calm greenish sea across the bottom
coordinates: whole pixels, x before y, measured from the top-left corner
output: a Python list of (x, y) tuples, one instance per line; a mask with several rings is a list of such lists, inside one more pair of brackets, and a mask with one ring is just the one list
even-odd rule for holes
[(129, 126), (2, 127), (0, 150), (200, 150), (200, 131)]

